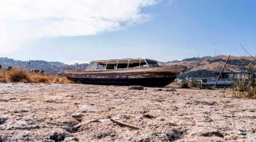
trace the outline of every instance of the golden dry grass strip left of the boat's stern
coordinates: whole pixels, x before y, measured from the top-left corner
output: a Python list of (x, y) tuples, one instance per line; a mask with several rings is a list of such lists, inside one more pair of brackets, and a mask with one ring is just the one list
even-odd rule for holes
[(50, 76), (41, 73), (30, 73), (25, 69), (14, 68), (0, 71), (0, 82), (24, 82), (24, 83), (70, 83), (63, 76)]

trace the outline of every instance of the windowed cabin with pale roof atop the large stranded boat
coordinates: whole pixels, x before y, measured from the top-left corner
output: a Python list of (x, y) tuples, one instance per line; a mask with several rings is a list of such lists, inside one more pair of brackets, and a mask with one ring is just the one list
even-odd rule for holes
[(159, 67), (156, 60), (123, 59), (123, 60), (93, 60), (86, 69), (132, 69), (143, 67)]

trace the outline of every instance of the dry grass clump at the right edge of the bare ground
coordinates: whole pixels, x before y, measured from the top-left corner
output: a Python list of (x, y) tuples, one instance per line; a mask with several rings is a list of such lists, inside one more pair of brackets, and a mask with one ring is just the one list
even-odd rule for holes
[(256, 79), (250, 79), (248, 84), (238, 81), (232, 91), (235, 98), (256, 98)]

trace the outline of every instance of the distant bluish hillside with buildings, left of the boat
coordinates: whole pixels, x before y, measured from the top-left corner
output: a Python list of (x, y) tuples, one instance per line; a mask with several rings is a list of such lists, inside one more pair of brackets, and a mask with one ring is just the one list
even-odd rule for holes
[(60, 62), (47, 62), (44, 60), (31, 60), (31, 61), (21, 61), (21, 60), (14, 60), (10, 58), (2, 58), (0, 57), (0, 64), (4, 68), (8, 68), (8, 66), (13, 67), (20, 67), (24, 69), (31, 69), (31, 70), (41, 70), (44, 73), (55, 75), (63, 71), (63, 69), (86, 69), (88, 64), (74, 64), (74, 65), (66, 65), (65, 63)]

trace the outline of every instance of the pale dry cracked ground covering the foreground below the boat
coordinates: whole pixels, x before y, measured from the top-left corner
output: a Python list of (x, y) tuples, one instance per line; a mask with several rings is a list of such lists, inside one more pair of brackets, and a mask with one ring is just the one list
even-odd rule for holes
[(0, 84), (0, 142), (255, 141), (255, 118), (222, 90)]

